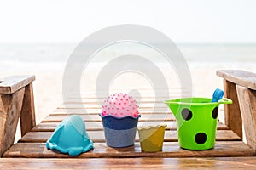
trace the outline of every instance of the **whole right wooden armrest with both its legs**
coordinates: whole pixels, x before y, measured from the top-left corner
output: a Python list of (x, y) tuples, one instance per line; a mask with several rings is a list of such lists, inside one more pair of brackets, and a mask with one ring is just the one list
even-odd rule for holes
[(241, 70), (217, 71), (224, 78), (225, 124), (242, 138), (242, 123), (247, 144), (256, 151), (256, 74)]

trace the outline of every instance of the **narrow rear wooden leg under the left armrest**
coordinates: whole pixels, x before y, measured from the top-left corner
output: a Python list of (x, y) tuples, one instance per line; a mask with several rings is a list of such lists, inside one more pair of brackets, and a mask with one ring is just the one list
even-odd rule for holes
[(23, 105), (20, 112), (20, 129), (21, 136), (32, 130), (36, 126), (34, 95), (32, 83), (25, 87), (25, 94), (23, 98)]

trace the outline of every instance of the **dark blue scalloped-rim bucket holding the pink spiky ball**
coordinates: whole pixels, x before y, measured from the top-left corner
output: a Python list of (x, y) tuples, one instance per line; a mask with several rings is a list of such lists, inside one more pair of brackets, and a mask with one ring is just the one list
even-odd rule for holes
[(140, 115), (137, 117), (124, 116), (102, 116), (102, 124), (106, 143), (113, 148), (125, 148), (134, 145), (137, 132), (137, 122)]

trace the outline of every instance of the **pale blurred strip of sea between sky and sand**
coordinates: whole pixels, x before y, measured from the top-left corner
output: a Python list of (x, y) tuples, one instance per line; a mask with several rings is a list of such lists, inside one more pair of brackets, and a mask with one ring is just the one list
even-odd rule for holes
[[(77, 44), (0, 44), (1, 67), (15, 63), (66, 63)], [(124, 45), (125, 46), (125, 45)], [(138, 46), (116, 46), (107, 48), (105, 57), (129, 53), (132, 48), (142, 51)], [(177, 44), (188, 63), (252, 63), (256, 61), (256, 44)], [(151, 51), (146, 52), (151, 53)], [(152, 55), (152, 54), (148, 54)], [(106, 59), (106, 58), (105, 58)], [(96, 59), (96, 61), (101, 61)]]

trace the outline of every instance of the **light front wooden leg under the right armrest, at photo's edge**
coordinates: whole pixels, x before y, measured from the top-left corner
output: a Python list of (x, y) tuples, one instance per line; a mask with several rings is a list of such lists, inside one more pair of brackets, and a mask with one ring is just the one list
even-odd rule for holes
[(236, 85), (247, 144), (256, 152), (256, 91)]

